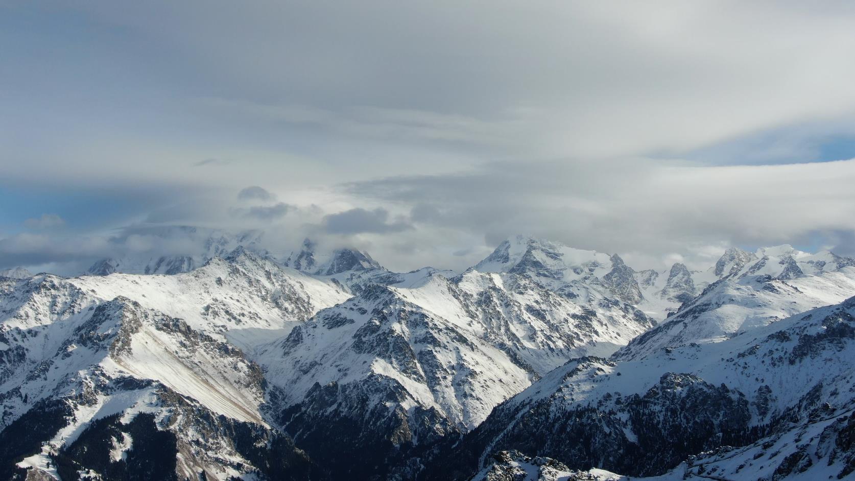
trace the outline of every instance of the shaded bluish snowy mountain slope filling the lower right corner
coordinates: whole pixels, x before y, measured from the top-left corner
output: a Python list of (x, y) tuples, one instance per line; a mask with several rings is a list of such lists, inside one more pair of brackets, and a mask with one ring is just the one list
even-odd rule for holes
[(853, 349), (855, 297), (721, 343), (569, 361), (437, 455), (429, 477), (489, 470), (491, 453), (516, 449), (634, 479), (846, 478)]

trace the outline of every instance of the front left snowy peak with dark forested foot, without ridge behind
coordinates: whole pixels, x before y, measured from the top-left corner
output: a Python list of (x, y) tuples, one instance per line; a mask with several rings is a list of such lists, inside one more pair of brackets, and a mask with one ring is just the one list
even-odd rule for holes
[[(264, 421), (263, 376), (240, 349), (126, 297), (80, 307), (40, 355), (59, 329), (3, 332), (4, 343), (32, 337), (0, 388), (3, 478), (32, 468), (62, 479), (300, 479), (316, 469)], [(275, 472), (279, 456), (287, 469)]]

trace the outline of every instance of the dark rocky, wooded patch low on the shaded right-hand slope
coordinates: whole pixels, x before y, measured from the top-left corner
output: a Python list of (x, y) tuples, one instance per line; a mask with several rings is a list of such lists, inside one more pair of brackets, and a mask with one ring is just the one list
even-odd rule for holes
[(596, 403), (575, 404), (573, 380), (604, 375), (604, 367), (616, 365), (596, 358), (571, 361), (560, 370), (565, 388), (532, 402), (506, 402), (464, 438), (463, 446), (475, 446), (476, 452), (519, 449), (575, 469), (602, 467), (650, 476), (694, 453), (740, 443), (749, 431), (745, 396), (691, 374), (668, 372), (644, 393), (615, 393)]

